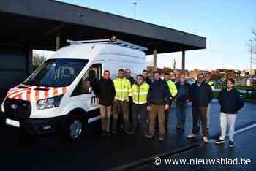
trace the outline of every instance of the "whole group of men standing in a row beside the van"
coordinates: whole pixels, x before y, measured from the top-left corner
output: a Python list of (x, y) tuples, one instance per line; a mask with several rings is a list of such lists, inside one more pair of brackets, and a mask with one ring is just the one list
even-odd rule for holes
[[(227, 126), (230, 126), (230, 146), (233, 145), (233, 129), (236, 121), (234, 116), (243, 107), (239, 92), (233, 88), (233, 85), (234, 80), (228, 80), (227, 88), (224, 88), (219, 94), (222, 135), (217, 140), (217, 144), (225, 142), (226, 129)], [(148, 71), (143, 70), (142, 74), (137, 75), (134, 79), (130, 69), (125, 71), (119, 69), (118, 77), (111, 80), (110, 72), (105, 70), (102, 79), (97, 83), (97, 91), (95, 91), (99, 98), (102, 135), (116, 134), (120, 126), (124, 129), (124, 134), (135, 134), (138, 129), (138, 118), (145, 118), (146, 137), (152, 139), (157, 126), (159, 127), (159, 140), (165, 140), (172, 102), (176, 102), (176, 129), (184, 129), (187, 102), (190, 101), (192, 102), (193, 128), (192, 134), (187, 137), (197, 137), (201, 123), (203, 142), (208, 142), (214, 86), (210, 73), (197, 75), (197, 81), (190, 85), (184, 74), (179, 75), (176, 81), (173, 73), (166, 72), (162, 80), (160, 73), (154, 71), (153, 79), (150, 79)], [(233, 99), (229, 99), (230, 97)], [(110, 130), (111, 111), (113, 111), (112, 130)]]

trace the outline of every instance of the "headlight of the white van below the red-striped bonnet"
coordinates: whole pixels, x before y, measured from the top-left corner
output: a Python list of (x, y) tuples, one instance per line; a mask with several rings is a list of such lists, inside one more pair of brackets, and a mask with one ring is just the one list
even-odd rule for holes
[(51, 97), (49, 99), (38, 100), (37, 101), (37, 109), (43, 110), (43, 109), (58, 107), (61, 102), (62, 96), (63, 96), (63, 94), (60, 96)]

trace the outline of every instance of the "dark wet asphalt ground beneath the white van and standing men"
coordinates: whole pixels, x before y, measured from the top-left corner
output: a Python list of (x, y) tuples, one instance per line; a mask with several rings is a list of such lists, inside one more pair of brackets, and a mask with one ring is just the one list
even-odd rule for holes
[[(188, 107), (187, 128), (176, 130), (176, 113), (170, 113), (170, 130), (164, 142), (159, 142), (157, 134), (154, 140), (143, 137), (144, 124), (140, 124), (140, 132), (132, 136), (119, 133), (107, 139), (99, 135), (99, 123), (89, 126), (79, 141), (70, 141), (57, 134), (31, 137), (9, 126), (0, 126), (0, 170), (170, 170), (178, 167), (152, 167), (151, 158), (158, 155), (183, 155), (188, 158), (217, 157), (241, 154), (246, 158), (247, 151), (256, 152), (253, 148), (255, 136), (253, 132), (241, 132), (236, 135), (236, 147), (233, 151), (221, 150), (212, 143), (202, 146), (200, 137), (187, 140), (192, 129), (191, 107)], [(256, 123), (256, 104), (246, 103), (238, 115), (236, 129)], [(219, 105), (211, 107), (210, 138), (219, 134)], [(251, 131), (250, 131), (251, 132)], [(240, 138), (243, 137), (243, 138)], [(240, 142), (241, 141), (241, 142)], [(243, 142), (250, 145), (242, 145)], [(198, 146), (200, 145), (200, 146)], [(246, 150), (244, 150), (246, 149)], [(183, 152), (182, 152), (183, 151)], [(224, 152), (225, 151), (225, 152)], [(182, 152), (182, 153), (181, 153)], [(248, 157), (249, 156), (248, 152)], [(217, 155), (217, 156), (216, 156)], [(238, 156), (238, 155), (237, 155)], [(180, 156), (178, 156), (180, 157)], [(233, 157), (233, 156), (230, 156)], [(253, 162), (253, 161), (252, 161)], [(148, 165), (149, 164), (149, 165)], [(252, 164), (253, 165), (253, 164)], [(125, 166), (125, 167), (124, 167)], [(215, 167), (214, 167), (215, 168)], [(197, 169), (197, 167), (192, 167)]]

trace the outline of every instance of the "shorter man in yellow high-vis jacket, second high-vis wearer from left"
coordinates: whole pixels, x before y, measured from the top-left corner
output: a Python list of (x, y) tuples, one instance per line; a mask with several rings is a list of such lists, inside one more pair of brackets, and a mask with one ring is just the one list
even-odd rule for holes
[(148, 119), (146, 110), (148, 89), (149, 85), (144, 81), (143, 75), (137, 75), (136, 83), (132, 85), (132, 134), (138, 129), (138, 116), (145, 115), (144, 118)]

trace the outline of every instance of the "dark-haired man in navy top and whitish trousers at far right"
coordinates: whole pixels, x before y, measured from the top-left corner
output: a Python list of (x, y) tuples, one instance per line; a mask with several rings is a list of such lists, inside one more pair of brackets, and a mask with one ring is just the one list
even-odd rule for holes
[(239, 91), (233, 88), (234, 84), (235, 80), (228, 79), (227, 88), (224, 88), (219, 92), (220, 128), (222, 129), (222, 134), (215, 142), (216, 144), (225, 143), (227, 126), (229, 126), (230, 148), (233, 148), (236, 114), (238, 113), (238, 110), (244, 107), (244, 102), (241, 99)]

